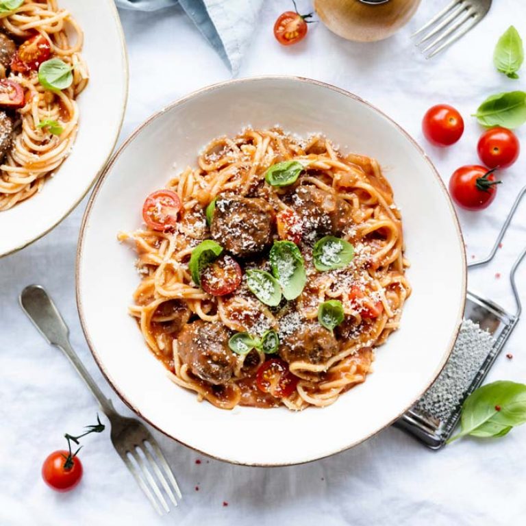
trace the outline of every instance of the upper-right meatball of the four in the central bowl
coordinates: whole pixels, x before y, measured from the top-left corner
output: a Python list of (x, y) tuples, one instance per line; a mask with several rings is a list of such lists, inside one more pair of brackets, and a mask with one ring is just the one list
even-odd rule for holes
[(301, 216), (307, 239), (312, 240), (316, 234), (339, 234), (352, 221), (352, 208), (345, 199), (313, 185), (299, 186), (292, 203)]

